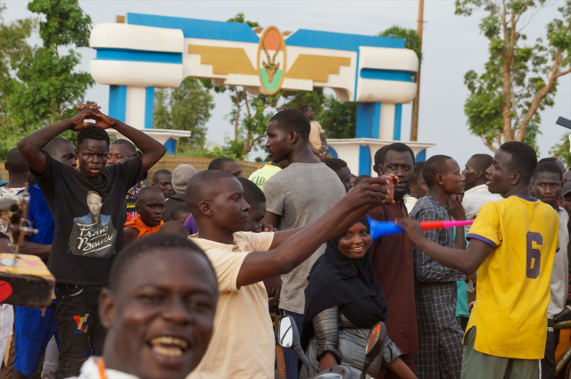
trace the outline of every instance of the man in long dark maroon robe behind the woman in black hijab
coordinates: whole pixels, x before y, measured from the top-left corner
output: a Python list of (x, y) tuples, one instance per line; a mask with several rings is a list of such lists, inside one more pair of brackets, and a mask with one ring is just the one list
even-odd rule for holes
[[(368, 212), (381, 221), (408, 217), (404, 195), (414, 176), (414, 152), (406, 144), (395, 143), (375, 154), (377, 175), (393, 174), (399, 178), (394, 185), (394, 203), (382, 204)], [(387, 235), (371, 244), (371, 260), (378, 283), (385, 293), (390, 309), (385, 320), (386, 334), (402, 352), (402, 361), (414, 372), (414, 353), (418, 351), (417, 308), (414, 301), (414, 267), (412, 243), (405, 234)], [(385, 379), (399, 377), (387, 370)]]

